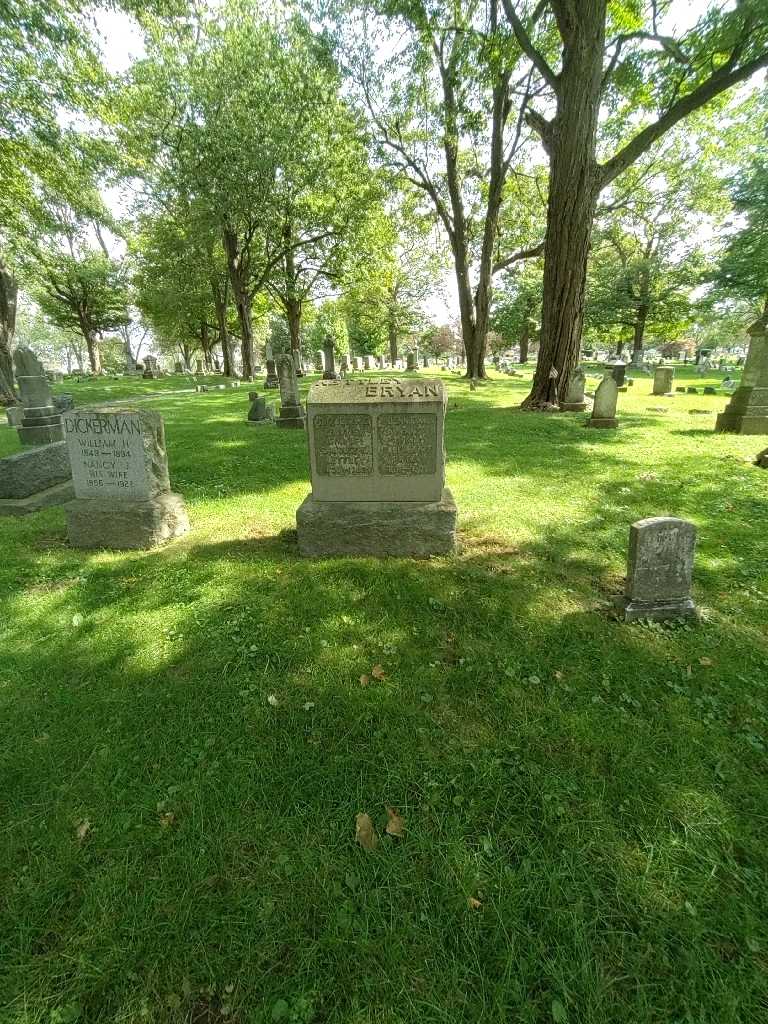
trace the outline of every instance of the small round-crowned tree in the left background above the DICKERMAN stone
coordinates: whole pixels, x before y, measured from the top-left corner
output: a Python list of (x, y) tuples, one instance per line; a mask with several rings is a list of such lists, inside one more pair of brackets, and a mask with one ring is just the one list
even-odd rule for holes
[(101, 371), (99, 342), (129, 321), (123, 268), (104, 253), (51, 254), (37, 301), (56, 327), (80, 332), (94, 374)]

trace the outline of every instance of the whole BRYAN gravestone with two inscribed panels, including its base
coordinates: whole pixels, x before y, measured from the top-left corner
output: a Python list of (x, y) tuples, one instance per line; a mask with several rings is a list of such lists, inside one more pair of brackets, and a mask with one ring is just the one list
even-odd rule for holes
[(312, 493), (304, 555), (434, 555), (455, 548), (439, 380), (319, 381), (307, 399)]

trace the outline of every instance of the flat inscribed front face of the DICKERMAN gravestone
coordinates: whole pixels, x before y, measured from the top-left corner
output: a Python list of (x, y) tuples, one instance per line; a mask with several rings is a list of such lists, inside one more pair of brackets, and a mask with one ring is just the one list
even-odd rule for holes
[(141, 420), (125, 413), (62, 417), (78, 498), (146, 498), (150, 489)]

